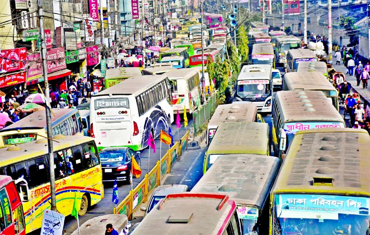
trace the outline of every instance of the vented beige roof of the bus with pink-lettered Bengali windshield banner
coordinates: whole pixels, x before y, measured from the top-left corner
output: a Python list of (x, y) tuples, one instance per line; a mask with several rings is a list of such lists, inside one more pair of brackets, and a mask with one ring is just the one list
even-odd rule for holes
[(344, 123), (332, 101), (321, 91), (279, 91), (274, 102), (279, 106), (283, 123), (320, 120)]

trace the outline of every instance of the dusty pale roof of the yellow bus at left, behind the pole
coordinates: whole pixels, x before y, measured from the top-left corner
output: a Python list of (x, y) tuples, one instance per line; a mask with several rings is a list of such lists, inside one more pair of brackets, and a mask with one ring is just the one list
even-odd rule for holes
[[(59, 151), (68, 147), (72, 147), (81, 143), (94, 141), (93, 138), (83, 135), (64, 136), (57, 134), (53, 137), (53, 149)], [(0, 149), (0, 167), (31, 159), (37, 156), (47, 155), (48, 145), (47, 139), (42, 138), (36, 141), (19, 144), (16, 146), (9, 146)]]

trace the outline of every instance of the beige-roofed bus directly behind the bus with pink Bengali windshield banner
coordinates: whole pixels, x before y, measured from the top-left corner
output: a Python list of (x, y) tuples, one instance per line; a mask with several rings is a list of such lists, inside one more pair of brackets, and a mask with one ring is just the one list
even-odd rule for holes
[(322, 72), (288, 72), (284, 75), (284, 91), (322, 91), (339, 111), (338, 91)]

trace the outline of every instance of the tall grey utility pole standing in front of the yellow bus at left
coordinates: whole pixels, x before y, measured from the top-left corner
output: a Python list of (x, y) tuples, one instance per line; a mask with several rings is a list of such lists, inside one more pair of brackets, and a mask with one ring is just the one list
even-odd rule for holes
[(48, 157), (49, 157), (49, 173), (50, 173), (50, 203), (51, 210), (57, 211), (57, 205), (55, 200), (55, 172), (54, 172), (54, 152), (53, 152), (53, 134), (51, 130), (51, 110), (50, 110), (50, 94), (49, 94), (49, 83), (47, 81), (47, 66), (46, 66), (46, 40), (44, 32), (44, 12), (42, 10), (42, 0), (37, 0), (38, 5), (38, 21), (40, 24), (40, 41), (41, 41), (41, 59), (42, 59), (42, 73), (45, 83), (45, 99), (46, 99), (46, 133), (47, 133), (47, 146), (48, 146)]

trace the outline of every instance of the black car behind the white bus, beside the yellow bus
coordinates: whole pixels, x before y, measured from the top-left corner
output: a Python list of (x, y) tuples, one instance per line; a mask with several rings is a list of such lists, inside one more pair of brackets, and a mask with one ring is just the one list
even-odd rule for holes
[(103, 170), (103, 182), (124, 181), (131, 184), (132, 157), (141, 166), (140, 152), (135, 152), (130, 147), (108, 147), (100, 153), (100, 162)]

